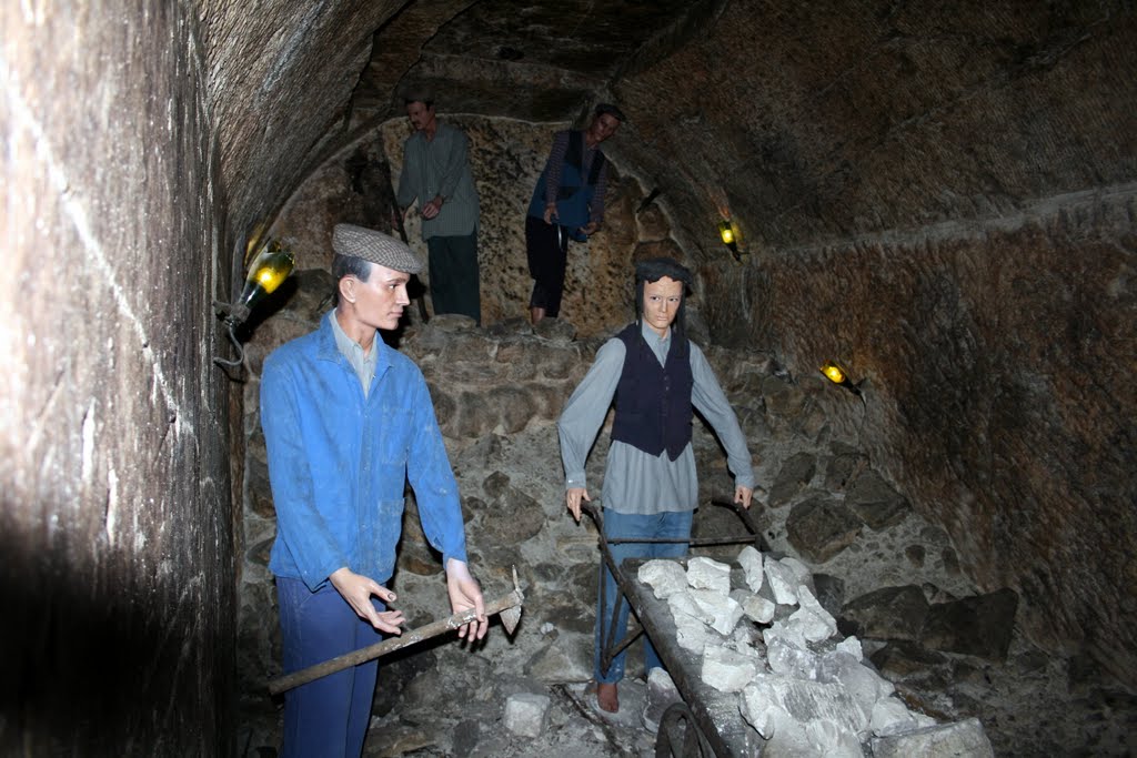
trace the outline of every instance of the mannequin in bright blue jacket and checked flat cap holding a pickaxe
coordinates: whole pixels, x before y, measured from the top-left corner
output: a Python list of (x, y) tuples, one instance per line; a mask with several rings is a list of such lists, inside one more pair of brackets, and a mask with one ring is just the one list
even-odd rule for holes
[[(478, 611), (458, 636), (480, 640), (488, 625), (426, 383), (377, 334), (398, 326), (422, 264), (398, 240), (349, 224), (335, 226), (332, 248), (335, 308), (315, 332), (274, 350), (260, 382), (284, 673), (400, 633), (404, 617), (387, 607), (396, 595), (384, 583), (408, 481), (423, 533), (442, 553), (453, 610)], [(290, 690), (282, 756), (359, 756), (376, 674), (372, 660)]]

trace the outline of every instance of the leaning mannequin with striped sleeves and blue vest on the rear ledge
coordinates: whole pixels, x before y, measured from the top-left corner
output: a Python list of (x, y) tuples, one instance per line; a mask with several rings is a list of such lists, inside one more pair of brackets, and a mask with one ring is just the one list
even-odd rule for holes
[(525, 253), (533, 278), (529, 311), (534, 324), (561, 313), (570, 238), (583, 242), (604, 222), (608, 161), (599, 147), (623, 122), (619, 108), (601, 103), (587, 130), (557, 132), (553, 138), (525, 217)]

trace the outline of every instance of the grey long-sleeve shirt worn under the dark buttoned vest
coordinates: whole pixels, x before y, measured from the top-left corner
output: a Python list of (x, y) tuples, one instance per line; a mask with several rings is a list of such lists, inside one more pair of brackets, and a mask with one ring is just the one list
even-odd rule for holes
[[(671, 345), (671, 332), (667, 332), (667, 336), (659, 338), (647, 324), (641, 328), (644, 339), (659, 365), (663, 365)], [(615, 395), (624, 367), (624, 343), (619, 339), (605, 342), (597, 351), (592, 367), (561, 414), (557, 433), (565, 468), (565, 489), (587, 486), (584, 464), (588, 451), (596, 441)], [(691, 405), (707, 419), (727, 449), (727, 465), (735, 475), (736, 485), (753, 489), (754, 469), (738, 417), (719, 385), (706, 356), (695, 343), (690, 343), (690, 353), (691, 375), (695, 380)], [(605, 508), (637, 515), (694, 510), (698, 507), (698, 490), (695, 452), (690, 444), (683, 448), (675, 460), (667, 458), (666, 450), (659, 456), (652, 456), (615, 440), (608, 448), (600, 495)]]

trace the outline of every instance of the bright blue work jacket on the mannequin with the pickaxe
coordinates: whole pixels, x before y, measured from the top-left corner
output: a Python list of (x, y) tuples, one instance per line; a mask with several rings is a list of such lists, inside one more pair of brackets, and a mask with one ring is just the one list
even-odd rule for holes
[(367, 397), (331, 322), (265, 360), (260, 424), (276, 508), (268, 568), (316, 591), (347, 566), (379, 583), (395, 570), (409, 480), (434, 549), (466, 560), (458, 485), (422, 372), (376, 334)]

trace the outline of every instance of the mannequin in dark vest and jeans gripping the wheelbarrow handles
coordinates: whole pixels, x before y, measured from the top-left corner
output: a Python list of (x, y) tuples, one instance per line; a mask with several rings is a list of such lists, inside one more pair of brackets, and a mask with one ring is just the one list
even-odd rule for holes
[[(679, 558), (687, 555), (691, 517), (698, 507), (698, 478), (691, 449), (692, 409), (711, 424), (735, 474), (735, 502), (750, 507), (754, 469), (746, 436), (714, 370), (683, 333), (683, 302), (691, 273), (671, 258), (636, 265), (636, 320), (605, 342), (580, 385), (568, 398), (557, 432), (565, 468), (565, 502), (580, 520), (581, 501), (591, 500), (584, 463), (608, 406), (615, 398), (612, 444), (604, 474), (604, 534), (609, 540), (667, 539), (673, 543), (626, 542), (611, 545), (619, 566), (625, 558)], [(595, 672), (600, 708), (620, 708), (616, 684), (624, 657), (603, 669), (603, 645), (612, 626), (619, 590), (600, 563), (603, 602), (596, 611)], [(628, 603), (616, 620), (619, 644), (628, 628)], [(645, 669), (662, 666), (644, 638)]]

